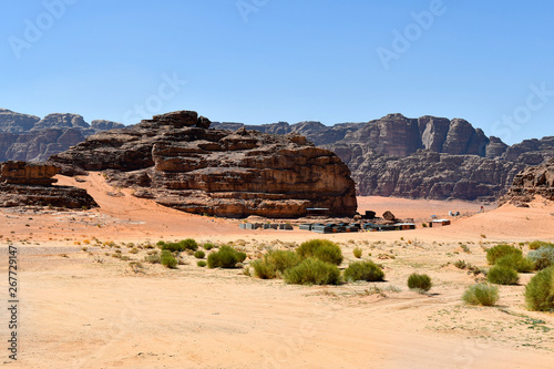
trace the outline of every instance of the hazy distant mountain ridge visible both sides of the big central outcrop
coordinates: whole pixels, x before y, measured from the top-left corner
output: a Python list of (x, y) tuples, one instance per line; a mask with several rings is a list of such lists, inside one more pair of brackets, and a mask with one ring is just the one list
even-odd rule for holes
[[(89, 135), (123, 126), (100, 120), (89, 125), (78, 114), (57, 113), (41, 120), (0, 109), (0, 162), (45, 161)], [(359, 195), (495, 201), (520, 171), (554, 157), (554, 136), (510, 146), (463, 119), (431, 115), (410, 119), (389, 114), (332, 126), (306, 121), (261, 125), (213, 122), (212, 127), (304, 135), (349, 166)]]

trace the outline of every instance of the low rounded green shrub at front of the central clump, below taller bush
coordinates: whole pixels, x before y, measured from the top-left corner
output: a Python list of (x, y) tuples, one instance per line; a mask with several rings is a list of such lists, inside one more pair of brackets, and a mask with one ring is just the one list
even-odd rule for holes
[(284, 279), (293, 285), (338, 285), (340, 270), (335, 264), (308, 257), (297, 266), (285, 270)]

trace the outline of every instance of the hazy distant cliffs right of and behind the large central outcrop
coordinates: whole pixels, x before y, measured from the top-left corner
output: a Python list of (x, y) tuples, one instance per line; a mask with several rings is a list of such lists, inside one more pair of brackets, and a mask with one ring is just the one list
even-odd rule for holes
[(359, 195), (494, 201), (524, 167), (554, 157), (554, 136), (509, 146), (460, 119), (389, 114), (367, 123), (280, 122), (248, 129), (294, 132), (335, 152), (350, 167)]

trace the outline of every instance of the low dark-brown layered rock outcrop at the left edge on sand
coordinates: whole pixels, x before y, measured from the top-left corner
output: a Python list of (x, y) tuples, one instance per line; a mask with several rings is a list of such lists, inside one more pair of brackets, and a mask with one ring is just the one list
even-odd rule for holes
[(98, 206), (85, 189), (53, 186), (59, 168), (51, 164), (6, 162), (0, 164), (0, 207), (54, 206), (82, 208)]

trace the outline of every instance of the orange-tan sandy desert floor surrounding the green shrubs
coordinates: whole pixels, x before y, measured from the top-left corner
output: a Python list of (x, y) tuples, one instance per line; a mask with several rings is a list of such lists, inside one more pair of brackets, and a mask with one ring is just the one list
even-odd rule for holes
[[(461, 296), (482, 275), (452, 265), (462, 259), (486, 267), (484, 248), (500, 242), (554, 242), (552, 203), (488, 205), (478, 213), (475, 203), (360, 197), (361, 212), (390, 209), (418, 224), (449, 211), (462, 216), (442, 228), (325, 235), (342, 246), (342, 268), (360, 247), (362, 258), (383, 265), (387, 281), (309, 287), (199, 268), (188, 255), (174, 270), (145, 263), (133, 268), (130, 262), (160, 239), (232, 243), (247, 252), (248, 265), (265, 249), (321, 235), (242, 230), (239, 221), (179, 213), (127, 189), (110, 196), (120, 191), (99, 174), (82, 183), (59, 178), (86, 188), (101, 208), (0, 211), (2, 296), (7, 245), (19, 250), (18, 361), (7, 349), (0, 358), (9, 368), (553, 367), (554, 315), (524, 306), (532, 275), (501, 286), (497, 306), (473, 307)], [(112, 257), (117, 249), (131, 260)], [(408, 289), (413, 271), (432, 277), (429, 294)], [(6, 342), (7, 309), (0, 319)]]

